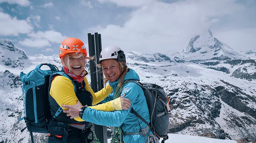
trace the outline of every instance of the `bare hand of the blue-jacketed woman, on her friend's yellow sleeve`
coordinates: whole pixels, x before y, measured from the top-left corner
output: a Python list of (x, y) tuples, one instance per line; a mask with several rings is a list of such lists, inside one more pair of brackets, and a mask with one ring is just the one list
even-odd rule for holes
[(79, 101), (75, 105), (61, 105), (62, 108), (66, 108), (63, 110), (64, 113), (67, 113), (67, 116), (70, 116), (70, 119), (79, 117), (79, 110), (82, 108), (82, 105)]

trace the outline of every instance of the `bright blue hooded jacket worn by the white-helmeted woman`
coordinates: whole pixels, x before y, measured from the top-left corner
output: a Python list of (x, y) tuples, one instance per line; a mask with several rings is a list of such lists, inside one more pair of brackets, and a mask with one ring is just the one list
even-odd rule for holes
[[(139, 75), (132, 69), (129, 69), (127, 74), (124, 76), (124, 81), (130, 79), (137, 81), (140, 80)], [(120, 79), (110, 83), (110, 86), (113, 88), (113, 93), (109, 94), (105, 101), (114, 99), (114, 94), (119, 81)], [(122, 88), (121, 96), (124, 94), (125, 98), (128, 98), (131, 101), (131, 107), (149, 123), (149, 110), (142, 88), (136, 83), (129, 82)], [(130, 113), (130, 110), (131, 108), (129, 110), (104, 112), (86, 108), (82, 119), (103, 126), (118, 127), (122, 125), (121, 128), (123, 132), (139, 132), (140, 126), (143, 129), (147, 125), (133, 113)], [(152, 132), (150, 131), (149, 134), (152, 134)], [(125, 135), (123, 136), (123, 140), (125, 143), (146, 142), (143, 135)]]

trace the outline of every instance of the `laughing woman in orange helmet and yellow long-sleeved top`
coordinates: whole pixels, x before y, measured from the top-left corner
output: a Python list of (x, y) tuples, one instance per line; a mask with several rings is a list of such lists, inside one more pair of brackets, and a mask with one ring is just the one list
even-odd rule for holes
[[(54, 116), (62, 104), (75, 105), (77, 101), (82, 106), (101, 111), (127, 110), (130, 108), (130, 101), (126, 98), (117, 98), (104, 104), (95, 105), (105, 99), (111, 92), (112, 87), (106, 86), (102, 90), (94, 93), (87, 78), (87, 71), (84, 70), (86, 60), (92, 60), (93, 57), (87, 57), (84, 43), (77, 38), (67, 38), (61, 42), (59, 47), (59, 57), (63, 65), (63, 74), (53, 74), (50, 77), (49, 104), (51, 115)], [(76, 91), (75, 91), (76, 89)], [(80, 117), (69, 118), (67, 113), (60, 114), (51, 120), (51, 129), (63, 130), (62, 134), (56, 134), (54, 131), (49, 134), (49, 143), (89, 143), (88, 135), (92, 133), (90, 123)], [(61, 126), (60, 126), (61, 125)]]

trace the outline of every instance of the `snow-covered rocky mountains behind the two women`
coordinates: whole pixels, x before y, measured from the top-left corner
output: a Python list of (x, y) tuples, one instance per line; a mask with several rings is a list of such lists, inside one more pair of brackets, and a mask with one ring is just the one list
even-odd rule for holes
[[(0, 47), (1, 53), (2, 50)], [(8, 55), (3, 56), (8, 58)], [(183, 52), (165, 55), (133, 51), (126, 53), (126, 57), (128, 67), (139, 74), (141, 82), (162, 86), (170, 98), (170, 132), (217, 139), (256, 140), (255, 60), (232, 51), (213, 38), (210, 31), (191, 39)], [(53, 63), (61, 67), (58, 55), (28, 56), (26, 62), (31, 65), (22, 70), (24, 73), (38, 63)], [(17, 121), (23, 113), (21, 70), (0, 66), (5, 66), (0, 73), (0, 121), (3, 128), (0, 142), (27, 143), (29, 133), (20, 132), (25, 127), (24, 121)], [(90, 71), (88, 65), (86, 70)], [(90, 83), (90, 72), (87, 78)], [(36, 140), (46, 141), (47, 135), (34, 135)]]

